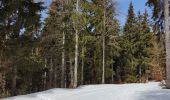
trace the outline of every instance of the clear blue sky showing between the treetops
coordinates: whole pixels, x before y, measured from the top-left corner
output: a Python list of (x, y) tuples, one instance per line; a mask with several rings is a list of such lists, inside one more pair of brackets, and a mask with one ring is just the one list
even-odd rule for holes
[[(42, 0), (45, 1), (45, 6), (49, 6), (52, 0)], [(131, 0), (115, 0), (117, 2), (117, 18), (120, 21), (120, 25), (123, 26), (126, 21), (127, 16), (127, 10), (129, 7), (129, 3)], [(139, 10), (141, 12), (145, 11), (145, 8), (148, 10), (148, 8), (145, 6), (147, 0), (132, 0), (134, 5), (135, 13), (137, 13)], [(42, 12), (43, 18), (47, 17), (46, 14), (47, 11)], [(150, 12), (150, 11), (149, 11)]]

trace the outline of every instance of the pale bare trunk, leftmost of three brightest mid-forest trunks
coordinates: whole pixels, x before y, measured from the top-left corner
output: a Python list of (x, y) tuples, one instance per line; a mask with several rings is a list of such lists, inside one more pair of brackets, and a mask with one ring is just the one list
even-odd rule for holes
[(62, 76), (61, 76), (61, 87), (65, 87), (65, 33), (63, 32), (63, 51), (62, 51)]

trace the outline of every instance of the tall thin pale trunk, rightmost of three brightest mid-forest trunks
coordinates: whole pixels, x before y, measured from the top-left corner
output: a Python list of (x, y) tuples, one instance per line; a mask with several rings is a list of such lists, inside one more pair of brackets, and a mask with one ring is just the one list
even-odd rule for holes
[(105, 0), (103, 2), (104, 6), (104, 17), (103, 17), (103, 34), (102, 34), (102, 46), (103, 46), (103, 69), (102, 69), (102, 84), (105, 83), (105, 32), (106, 32), (106, 9), (105, 9)]

